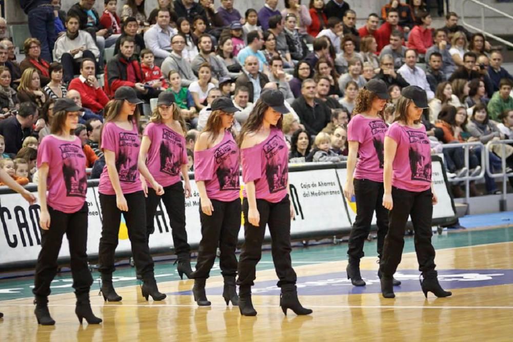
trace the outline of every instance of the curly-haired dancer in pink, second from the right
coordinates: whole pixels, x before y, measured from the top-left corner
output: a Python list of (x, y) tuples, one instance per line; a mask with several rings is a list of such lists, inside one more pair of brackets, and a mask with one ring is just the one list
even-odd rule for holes
[[(377, 218), (380, 260), (388, 230), (388, 210), (383, 208), (382, 202), (383, 140), (387, 130), (384, 108), (389, 98), (385, 82), (371, 79), (358, 93), (353, 111), (358, 114), (347, 125), (349, 153), (344, 195), (347, 200), (356, 201), (357, 215), (349, 235), (349, 263), (346, 272), (354, 286), (365, 286), (360, 274), (360, 259), (365, 255), (363, 244), (369, 236), (374, 212)], [(378, 276), (381, 273), (378, 272)], [(401, 285), (400, 281), (395, 281), (394, 285)]]

